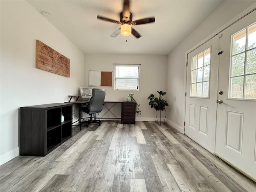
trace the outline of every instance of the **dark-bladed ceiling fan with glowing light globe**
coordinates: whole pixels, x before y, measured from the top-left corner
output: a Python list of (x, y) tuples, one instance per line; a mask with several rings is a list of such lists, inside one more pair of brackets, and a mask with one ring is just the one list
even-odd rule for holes
[(120, 13), (120, 21), (109, 19), (100, 15), (97, 15), (97, 18), (100, 20), (121, 24), (121, 27), (110, 35), (111, 37), (116, 37), (121, 32), (121, 34), (124, 36), (128, 36), (132, 33), (136, 38), (140, 38), (141, 35), (130, 25), (141, 25), (141, 24), (155, 22), (155, 17), (143, 18), (143, 19), (133, 21), (132, 13), (130, 12), (129, 0), (124, 0), (123, 11)]

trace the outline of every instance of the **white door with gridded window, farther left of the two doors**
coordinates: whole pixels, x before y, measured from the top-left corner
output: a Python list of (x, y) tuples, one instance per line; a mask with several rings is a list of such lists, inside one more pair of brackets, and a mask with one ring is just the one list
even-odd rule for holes
[(218, 37), (188, 54), (185, 134), (214, 153), (218, 86)]

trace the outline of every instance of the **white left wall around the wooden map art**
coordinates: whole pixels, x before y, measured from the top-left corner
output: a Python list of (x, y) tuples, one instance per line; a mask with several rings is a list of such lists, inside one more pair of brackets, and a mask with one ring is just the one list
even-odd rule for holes
[[(0, 164), (18, 156), (21, 106), (63, 103), (84, 86), (84, 53), (26, 1), (1, 3)], [(70, 59), (70, 78), (36, 68), (36, 39)]]

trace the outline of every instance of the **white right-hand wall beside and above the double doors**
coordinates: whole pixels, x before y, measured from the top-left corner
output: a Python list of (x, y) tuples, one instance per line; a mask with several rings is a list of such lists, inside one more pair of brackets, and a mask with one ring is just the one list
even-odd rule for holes
[[(167, 91), (168, 123), (184, 132), (185, 66), (186, 52), (199, 42), (218, 31), (234, 17), (254, 4), (255, 1), (224, 1), (204, 21), (193, 30), (170, 54), (168, 54)], [(181, 87), (184, 86), (184, 91)]]

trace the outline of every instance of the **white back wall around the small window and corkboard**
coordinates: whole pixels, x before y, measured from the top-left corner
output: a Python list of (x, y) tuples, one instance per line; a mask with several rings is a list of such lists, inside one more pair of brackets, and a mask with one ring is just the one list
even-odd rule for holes
[[(114, 90), (114, 64), (141, 64), (139, 91)], [(134, 93), (142, 113), (136, 115), (136, 120), (155, 120), (155, 110), (150, 108), (147, 98), (150, 94), (158, 94), (159, 90), (166, 91), (167, 55), (86, 54), (84, 71), (86, 87), (88, 87), (89, 70), (113, 71), (112, 87), (100, 87), (106, 89), (105, 100), (125, 101), (130, 93)]]

